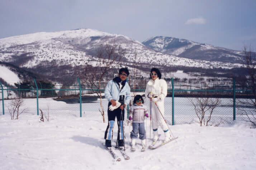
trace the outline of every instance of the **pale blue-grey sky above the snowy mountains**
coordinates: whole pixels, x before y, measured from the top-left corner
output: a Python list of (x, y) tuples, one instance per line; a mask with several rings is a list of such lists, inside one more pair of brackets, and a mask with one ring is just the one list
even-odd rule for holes
[(256, 0), (0, 0), (0, 38), (78, 28), (256, 48)]

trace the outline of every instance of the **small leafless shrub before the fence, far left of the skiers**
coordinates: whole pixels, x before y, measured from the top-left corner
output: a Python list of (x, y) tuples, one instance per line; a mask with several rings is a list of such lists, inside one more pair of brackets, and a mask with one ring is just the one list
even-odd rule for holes
[(11, 115), (11, 120), (18, 119), (19, 115), (28, 111), (28, 108), (21, 109), (24, 104), (24, 100), (22, 98), (15, 98), (11, 100), (8, 110)]

